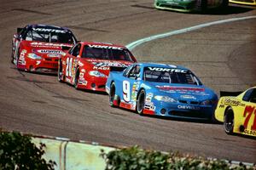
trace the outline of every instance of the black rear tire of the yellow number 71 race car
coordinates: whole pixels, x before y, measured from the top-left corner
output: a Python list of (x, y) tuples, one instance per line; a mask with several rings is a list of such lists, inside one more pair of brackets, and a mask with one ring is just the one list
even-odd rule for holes
[(234, 112), (230, 107), (224, 113), (224, 130), (225, 130), (225, 133), (233, 134), (233, 129), (234, 129)]

